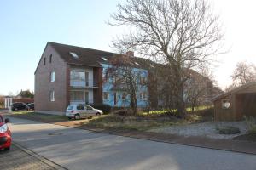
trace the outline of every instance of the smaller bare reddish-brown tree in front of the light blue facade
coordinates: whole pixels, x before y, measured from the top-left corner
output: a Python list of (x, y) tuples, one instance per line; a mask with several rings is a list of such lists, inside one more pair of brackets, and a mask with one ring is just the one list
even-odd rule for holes
[(138, 89), (140, 86), (146, 85), (147, 80), (143, 79), (142, 81), (142, 72), (134, 69), (136, 66), (130, 56), (119, 54), (119, 56), (113, 57), (110, 63), (111, 66), (107, 70), (106, 78), (112, 77), (113, 90), (123, 92), (122, 101), (125, 104), (128, 102), (131, 114), (136, 115)]

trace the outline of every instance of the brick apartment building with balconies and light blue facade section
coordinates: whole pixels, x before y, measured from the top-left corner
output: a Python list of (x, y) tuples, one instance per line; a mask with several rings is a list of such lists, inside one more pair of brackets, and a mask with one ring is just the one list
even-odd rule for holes
[[(108, 104), (128, 106), (125, 92), (113, 88), (113, 80), (103, 81), (110, 59), (117, 54), (90, 48), (80, 48), (48, 42), (35, 71), (35, 110), (50, 113), (66, 111), (73, 104)], [(137, 58), (132, 52), (134, 70), (144, 79), (150, 79), (148, 59)], [(138, 107), (157, 105), (154, 92), (148, 84), (138, 88)], [(154, 97), (153, 97), (154, 96)], [(124, 102), (125, 101), (125, 102)]]

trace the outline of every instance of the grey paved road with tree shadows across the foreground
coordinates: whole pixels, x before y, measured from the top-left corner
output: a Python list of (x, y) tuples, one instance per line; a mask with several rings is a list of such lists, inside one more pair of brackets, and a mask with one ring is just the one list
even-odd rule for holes
[(255, 170), (256, 156), (11, 118), (16, 142), (68, 169)]

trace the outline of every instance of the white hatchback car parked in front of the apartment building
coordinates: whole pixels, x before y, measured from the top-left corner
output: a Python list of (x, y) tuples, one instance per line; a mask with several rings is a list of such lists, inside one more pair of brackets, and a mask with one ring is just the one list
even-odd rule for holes
[(87, 118), (92, 116), (102, 116), (103, 111), (95, 109), (90, 105), (68, 105), (66, 116), (69, 119)]

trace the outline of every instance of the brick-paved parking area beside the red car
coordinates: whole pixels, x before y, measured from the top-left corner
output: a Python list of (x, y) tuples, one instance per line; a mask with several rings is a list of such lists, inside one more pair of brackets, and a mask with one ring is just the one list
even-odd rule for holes
[(63, 169), (55, 163), (38, 156), (30, 150), (21, 148), (20, 145), (13, 144), (11, 150), (0, 150), (1, 170), (54, 170)]

